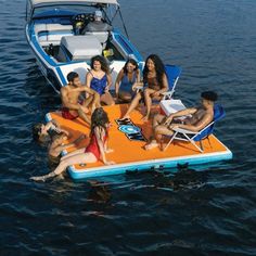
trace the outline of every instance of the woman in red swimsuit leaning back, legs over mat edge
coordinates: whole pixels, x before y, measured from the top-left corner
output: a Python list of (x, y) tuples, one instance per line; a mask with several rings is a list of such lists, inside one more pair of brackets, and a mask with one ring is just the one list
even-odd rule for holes
[(48, 175), (31, 177), (31, 180), (44, 181), (48, 178), (61, 175), (71, 165), (90, 164), (102, 161), (105, 165), (114, 162), (106, 161), (105, 154), (113, 152), (107, 148), (110, 120), (103, 108), (98, 107), (91, 116), (91, 133), (89, 145), (85, 149), (74, 151), (61, 158), (56, 169)]

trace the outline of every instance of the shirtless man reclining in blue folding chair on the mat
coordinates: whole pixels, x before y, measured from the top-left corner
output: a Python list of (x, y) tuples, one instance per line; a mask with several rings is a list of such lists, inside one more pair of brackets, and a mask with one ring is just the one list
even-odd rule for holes
[(190, 131), (200, 131), (214, 119), (214, 104), (218, 95), (214, 91), (201, 93), (202, 102), (197, 107), (190, 107), (168, 117), (157, 114), (153, 118), (153, 138), (150, 143), (145, 144), (145, 150), (157, 148), (162, 142), (163, 136), (172, 136), (175, 128)]

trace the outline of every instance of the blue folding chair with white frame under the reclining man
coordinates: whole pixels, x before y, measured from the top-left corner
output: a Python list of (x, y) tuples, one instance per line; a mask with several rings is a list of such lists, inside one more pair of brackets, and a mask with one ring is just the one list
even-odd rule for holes
[[(208, 139), (208, 137), (214, 132), (215, 123), (223, 118), (225, 115), (226, 114), (223, 107), (219, 104), (215, 104), (214, 120), (209, 125), (207, 125), (204, 129), (197, 132), (180, 128), (174, 129), (175, 135), (171, 136), (169, 142), (167, 143), (164, 150), (166, 150), (174, 140), (180, 140), (191, 142), (201, 153), (203, 153), (204, 149), (202, 145), (202, 140)], [(195, 143), (196, 141), (200, 142), (200, 146)]]

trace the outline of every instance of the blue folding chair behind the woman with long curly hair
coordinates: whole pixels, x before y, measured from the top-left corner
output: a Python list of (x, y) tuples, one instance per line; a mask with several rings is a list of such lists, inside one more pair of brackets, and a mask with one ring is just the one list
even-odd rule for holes
[(167, 75), (169, 90), (162, 94), (164, 95), (163, 100), (170, 100), (175, 93), (176, 85), (181, 74), (181, 67), (175, 65), (165, 65), (165, 73)]

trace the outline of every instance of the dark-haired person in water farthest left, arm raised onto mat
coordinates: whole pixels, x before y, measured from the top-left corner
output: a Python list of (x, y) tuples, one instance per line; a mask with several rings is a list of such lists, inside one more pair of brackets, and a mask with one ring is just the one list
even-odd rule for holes
[(67, 137), (69, 132), (61, 128), (56, 120), (48, 121), (47, 125), (38, 123), (33, 127), (33, 138), (40, 143), (47, 143), (51, 141), (54, 135), (63, 132)]

